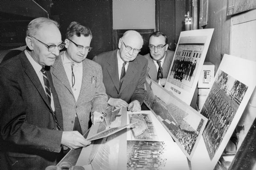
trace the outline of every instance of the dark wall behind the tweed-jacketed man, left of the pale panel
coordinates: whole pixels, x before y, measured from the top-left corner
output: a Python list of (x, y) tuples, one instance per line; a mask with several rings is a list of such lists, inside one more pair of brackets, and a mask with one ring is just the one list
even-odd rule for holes
[(58, 19), (62, 40), (72, 21), (88, 26), (93, 34), (90, 44), (93, 49), (87, 58), (92, 59), (101, 52), (112, 50), (111, 1), (53, 1), (51, 17)]

